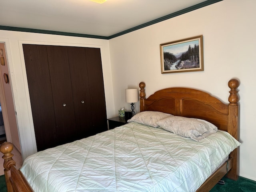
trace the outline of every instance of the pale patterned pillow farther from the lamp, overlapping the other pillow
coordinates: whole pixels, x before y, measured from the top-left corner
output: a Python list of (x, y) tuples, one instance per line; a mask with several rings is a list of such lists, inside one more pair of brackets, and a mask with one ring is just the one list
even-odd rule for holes
[(157, 124), (167, 131), (195, 141), (200, 141), (218, 130), (214, 124), (206, 120), (181, 116), (171, 116), (158, 121)]

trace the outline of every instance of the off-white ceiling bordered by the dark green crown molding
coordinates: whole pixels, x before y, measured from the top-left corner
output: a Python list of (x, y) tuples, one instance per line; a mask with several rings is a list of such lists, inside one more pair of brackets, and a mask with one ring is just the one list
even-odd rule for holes
[(0, 3), (0, 26), (110, 37), (180, 10), (218, 1), (107, 0), (98, 4), (89, 0), (4, 0)]

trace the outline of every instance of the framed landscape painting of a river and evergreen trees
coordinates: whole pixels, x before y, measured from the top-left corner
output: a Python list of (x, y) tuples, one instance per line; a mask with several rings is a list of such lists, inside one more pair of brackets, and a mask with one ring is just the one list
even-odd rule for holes
[(203, 71), (203, 36), (160, 44), (161, 70), (164, 73)]

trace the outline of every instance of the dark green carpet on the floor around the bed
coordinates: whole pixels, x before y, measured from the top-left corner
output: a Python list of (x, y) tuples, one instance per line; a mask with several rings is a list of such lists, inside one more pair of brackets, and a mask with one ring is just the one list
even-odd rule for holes
[[(216, 184), (210, 192), (256, 192), (256, 181), (239, 177), (237, 181), (223, 178), (224, 185)], [(4, 175), (0, 176), (0, 192), (7, 192)]]

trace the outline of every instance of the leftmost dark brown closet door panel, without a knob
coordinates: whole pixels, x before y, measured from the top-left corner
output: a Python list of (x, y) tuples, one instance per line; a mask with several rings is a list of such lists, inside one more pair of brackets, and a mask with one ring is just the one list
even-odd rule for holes
[(58, 142), (47, 51), (46, 46), (27, 44), (23, 50), (36, 143), (42, 150)]

